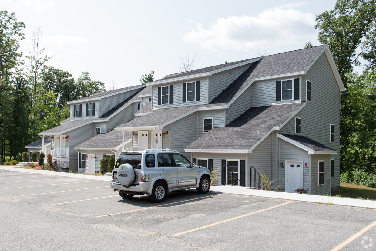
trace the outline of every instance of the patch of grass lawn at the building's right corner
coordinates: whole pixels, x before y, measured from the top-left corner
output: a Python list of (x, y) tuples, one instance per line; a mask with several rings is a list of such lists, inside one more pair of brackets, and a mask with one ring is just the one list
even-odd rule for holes
[(376, 188), (355, 184), (341, 183), (340, 189), (332, 192), (332, 196), (341, 195), (345, 198), (376, 200)]

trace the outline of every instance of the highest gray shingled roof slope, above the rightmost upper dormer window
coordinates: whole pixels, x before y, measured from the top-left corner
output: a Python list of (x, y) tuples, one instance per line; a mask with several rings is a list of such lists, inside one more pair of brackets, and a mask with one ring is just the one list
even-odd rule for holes
[(215, 97), (209, 105), (226, 105), (253, 79), (305, 71), (325, 45), (264, 56)]

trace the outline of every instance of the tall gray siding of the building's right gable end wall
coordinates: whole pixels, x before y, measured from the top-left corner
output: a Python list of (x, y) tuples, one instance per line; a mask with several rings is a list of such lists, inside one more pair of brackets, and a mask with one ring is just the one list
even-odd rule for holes
[[(306, 79), (312, 82), (312, 102), (296, 117), (302, 118), (301, 134), (337, 151), (334, 158), (334, 177), (331, 186), (340, 186), (340, 90), (335, 81), (329, 62), (323, 53), (302, 76), (303, 90), (306, 90)], [(334, 124), (334, 143), (330, 143), (330, 124)], [(291, 119), (280, 133), (295, 134), (295, 118)]]

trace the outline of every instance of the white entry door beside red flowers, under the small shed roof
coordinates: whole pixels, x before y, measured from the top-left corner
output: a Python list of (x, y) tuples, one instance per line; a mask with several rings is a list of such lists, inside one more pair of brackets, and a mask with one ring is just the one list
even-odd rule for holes
[(286, 161), (286, 192), (295, 193), (303, 188), (303, 162)]

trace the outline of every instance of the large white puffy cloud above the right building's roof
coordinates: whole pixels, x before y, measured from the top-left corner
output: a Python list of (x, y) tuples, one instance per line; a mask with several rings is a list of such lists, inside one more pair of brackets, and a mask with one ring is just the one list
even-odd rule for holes
[[(301, 5), (301, 4), (299, 4)], [(284, 5), (267, 9), (255, 17), (218, 18), (209, 28), (197, 23), (184, 37), (187, 43), (199, 43), (214, 52), (248, 52), (263, 48), (302, 45), (315, 40), (315, 15)], [(288, 9), (286, 9), (288, 8)]]

